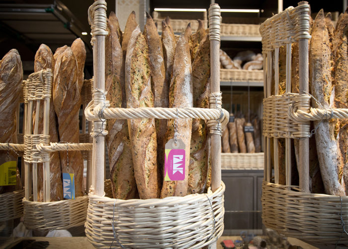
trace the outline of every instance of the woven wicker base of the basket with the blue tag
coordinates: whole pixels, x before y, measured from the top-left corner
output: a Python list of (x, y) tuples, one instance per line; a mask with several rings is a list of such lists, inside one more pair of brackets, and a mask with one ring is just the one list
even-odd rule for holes
[(32, 202), (23, 198), (23, 205), (24, 225), (27, 229), (68, 229), (85, 223), (88, 196), (56, 202)]

